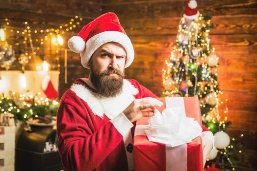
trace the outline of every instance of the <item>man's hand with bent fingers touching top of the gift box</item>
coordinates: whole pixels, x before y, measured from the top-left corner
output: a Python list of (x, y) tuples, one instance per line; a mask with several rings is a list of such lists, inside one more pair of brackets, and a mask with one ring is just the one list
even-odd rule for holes
[[(124, 111), (123, 113), (128, 118), (130, 122), (134, 122), (142, 117), (146, 116), (153, 116), (156, 108), (155, 107), (161, 107), (163, 105), (162, 102), (160, 102), (157, 99), (154, 99), (152, 97), (146, 97), (142, 99), (135, 99)], [(142, 111), (146, 108), (151, 108), (151, 110), (148, 111)]]

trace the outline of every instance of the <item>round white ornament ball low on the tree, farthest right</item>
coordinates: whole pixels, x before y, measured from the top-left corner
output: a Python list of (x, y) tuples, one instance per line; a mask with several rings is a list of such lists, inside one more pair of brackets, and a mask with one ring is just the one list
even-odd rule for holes
[(226, 132), (216, 132), (214, 134), (214, 146), (217, 149), (224, 149), (225, 147), (228, 147), (230, 145), (230, 136)]

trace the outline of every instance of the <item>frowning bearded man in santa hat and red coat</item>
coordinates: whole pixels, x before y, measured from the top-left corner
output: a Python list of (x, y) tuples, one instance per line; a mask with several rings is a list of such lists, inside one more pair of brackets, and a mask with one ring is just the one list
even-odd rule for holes
[[(133, 170), (136, 120), (153, 116), (163, 104), (146, 87), (124, 79), (134, 58), (132, 43), (114, 13), (85, 25), (68, 41), (80, 53), (88, 77), (77, 79), (57, 112), (58, 148), (65, 171)], [(146, 108), (151, 110), (142, 111)], [(204, 155), (214, 144), (203, 127)], [(206, 160), (206, 159), (205, 159)]]

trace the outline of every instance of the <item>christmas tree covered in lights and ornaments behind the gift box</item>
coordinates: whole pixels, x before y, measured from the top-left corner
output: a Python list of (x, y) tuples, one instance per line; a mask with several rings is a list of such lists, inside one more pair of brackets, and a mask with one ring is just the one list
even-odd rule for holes
[(162, 96), (199, 98), (203, 125), (215, 135), (215, 148), (206, 166), (216, 163), (220, 169), (227, 167), (234, 170), (233, 166), (238, 164), (234, 157), (235, 139), (227, 134), (231, 122), (226, 116), (222, 115), (221, 118), (218, 109), (225, 106), (224, 115), (228, 113), (228, 100), (220, 101), (223, 92), (219, 88), (216, 73), (219, 58), (209, 39), (211, 16), (204, 17), (196, 7), (196, 1), (190, 0), (180, 20), (174, 49), (162, 69), (165, 89)]

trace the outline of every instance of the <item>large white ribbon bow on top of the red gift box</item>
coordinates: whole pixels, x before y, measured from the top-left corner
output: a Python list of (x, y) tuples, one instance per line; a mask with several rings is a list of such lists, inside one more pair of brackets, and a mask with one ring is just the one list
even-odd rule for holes
[(166, 108), (162, 115), (157, 111), (155, 116), (150, 117), (149, 129), (145, 129), (149, 141), (176, 147), (200, 136), (202, 128), (198, 122), (185, 117), (181, 111), (181, 107)]

